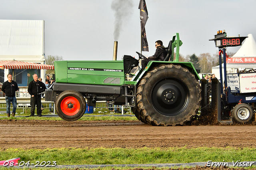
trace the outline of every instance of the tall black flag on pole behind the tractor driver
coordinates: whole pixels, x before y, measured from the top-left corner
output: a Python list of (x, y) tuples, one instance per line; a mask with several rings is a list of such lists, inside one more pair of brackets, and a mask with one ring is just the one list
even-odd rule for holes
[(140, 0), (139, 9), (140, 9), (140, 27), (141, 27), (141, 35), (142, 35), (141, 51), (148, 51), (148, 41), (147, 41), (146, 30), (145, 30), (145, 25), (148, 20), (148, 10), (147, 10), (145, 0)]

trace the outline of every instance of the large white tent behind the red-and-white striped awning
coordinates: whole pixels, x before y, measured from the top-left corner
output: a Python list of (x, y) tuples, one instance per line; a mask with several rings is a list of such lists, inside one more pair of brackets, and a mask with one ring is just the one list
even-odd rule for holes
[[(0, 20), (0, 61), (24, 61), (44, 64), (44, 20)], [(1, 77), (7, 80), (9, 69), (4, 69)], [(18, 76), (14, 81), (26, 86), (28, 73), (40, 74), (44, 80), (45, 70), (15, 69)], [(32, 79), (32, 78), (31, 78)]]

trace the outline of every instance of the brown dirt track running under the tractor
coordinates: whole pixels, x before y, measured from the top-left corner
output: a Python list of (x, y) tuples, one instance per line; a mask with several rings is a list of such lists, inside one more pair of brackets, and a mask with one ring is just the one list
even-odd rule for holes
[(139, 121), (1, 120), (0, 148), (256, 147), (255, 125), (153, 127)]

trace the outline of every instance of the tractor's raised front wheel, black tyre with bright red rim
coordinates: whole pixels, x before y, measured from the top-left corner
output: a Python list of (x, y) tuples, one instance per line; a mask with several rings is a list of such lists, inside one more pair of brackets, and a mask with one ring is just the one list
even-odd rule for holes
[(67, 90), (58, 95), (55, 101), (57, 114), (65, 121), (80, 119), (86, 110), (86, 101), (77, 91)]

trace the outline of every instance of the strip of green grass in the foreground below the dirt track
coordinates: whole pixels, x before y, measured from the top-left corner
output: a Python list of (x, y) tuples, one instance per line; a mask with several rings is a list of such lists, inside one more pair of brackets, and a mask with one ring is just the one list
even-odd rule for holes
[[(161, 164), (189, 162), (255, 161), (256, 148), (54, 148), (0, 150), (0, 160), (20, 157), (30, 163), (53, 162), (57, 165), (78, 164)], [(20, 162), (19, 161), (19, 162)], [(252, 166), (250, 168), (255, 168)]]

